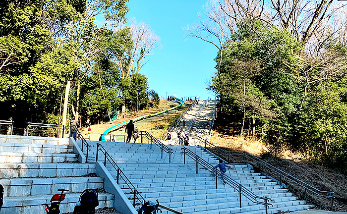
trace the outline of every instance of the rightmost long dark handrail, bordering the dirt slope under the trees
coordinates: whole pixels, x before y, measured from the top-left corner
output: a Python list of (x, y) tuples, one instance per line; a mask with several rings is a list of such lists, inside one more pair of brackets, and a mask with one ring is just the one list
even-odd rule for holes
[[(222, 158), (224, 160), (227, 160), (227, 162), (231, 162), (231, 158), (235, 159), (234, 157), (241, 157), (243, 158), (243, 162), (244, 163), (256, 163), (258, 165), (258, 169), (259, 171), (262, 171), (261, 167), (267, 169), (268, 171), (271, 172), (272, 176), (277, 176), (278, 177), (278, 184), (282, 185), (282, 179), (286, 178), (292, 182), (294, 182), (295, 184), (301, 186), (304, 189), (304, 194), (305, 196), (307, 195), (307, 191), (320, 196), (320, 197), (325, 197), (325, 198), (330, 198), (330, 204), (331, 204), (331, 210), (334, 210), (334, 206), (333, 206), (333, 199), (335, 198), (333, 196), (333, 194), (335, 194), (334, 192), (331, 191), (322, 191), (319, 190), (313, 186), (311, 186), (310, 184), (307, 184), (306, 182), (288, 174), (287, 172), (271, 165), (270, 163), (261, 160), (251, 154), (249, 154), (246, 151), (226, 151), (221, 149), (220, 147), (208, 142), (207, 140), (199, 137), (199, 136), (192, 136), (193, 138), (193, 144), (195, 146), (195, 140), (197, 140), (198, 142), (202, 143), (202, 146), (205, 147), (205, 150), (209, 150), (210, 152), (214, 153), (215, 155), (218, 156), (218, 158)], [(251, 161), (247, 161), (247, 159), (251, 160)]]

